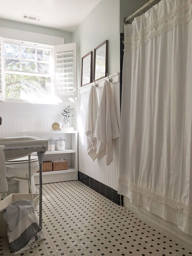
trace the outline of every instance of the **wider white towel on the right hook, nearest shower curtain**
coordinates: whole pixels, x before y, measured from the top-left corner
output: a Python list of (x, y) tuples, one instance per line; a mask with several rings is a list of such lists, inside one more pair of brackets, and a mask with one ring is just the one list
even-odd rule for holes
[(95, 128), (97, 138), (97, 159), (106, 155), (107, 166), (113, 161), (112, 140), (119, 137), (119, 128), (113, 101), (111, 84), (105, 81), (99, 104), (97, 123)]

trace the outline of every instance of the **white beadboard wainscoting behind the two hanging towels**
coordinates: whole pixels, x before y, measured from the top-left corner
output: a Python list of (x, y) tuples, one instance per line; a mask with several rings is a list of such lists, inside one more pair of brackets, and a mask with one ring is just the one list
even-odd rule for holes
[[(115, 103), (115, 111), (118, 119), (118, 125), (120, 124), (120, 74), (116, 73), (111, 75), (113, 81), (111, 88), (113, 91), (113, 99)], [(108, 78), (103, 78), (96, 81), (98, 83), (97, 97), (100, 101), (104, 81)], [(114, 141), (113, 144), (113, 162), (107, 166), (105, 157), (95, 162), (87, 154), (87, 144), (85, 135), (85, 122), (87, 115), (88, 98), (91, 86), (94, 83), (83, 86), (78, 89), (78, 109), (77, 109), (77, 125), (79, 130), (78, 138), (78, 170), (86, 175), (102, 182), (103, 184), (117, 190), (118, 189), (118, 171), (119, 171), (119, 138)]]

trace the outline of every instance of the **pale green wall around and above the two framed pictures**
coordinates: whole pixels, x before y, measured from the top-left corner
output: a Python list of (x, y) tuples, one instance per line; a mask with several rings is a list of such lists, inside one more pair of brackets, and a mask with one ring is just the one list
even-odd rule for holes
[(108, 73), (119, 72), (119, 1), (102, 0), (72, 33), (77, 43), (78, 87), (81, 85), (81, 58), (100, 43), (109, 40)]

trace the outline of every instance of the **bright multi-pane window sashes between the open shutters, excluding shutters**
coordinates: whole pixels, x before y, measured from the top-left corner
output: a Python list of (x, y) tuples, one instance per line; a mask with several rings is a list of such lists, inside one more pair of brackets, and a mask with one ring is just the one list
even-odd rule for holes
[(40, 102), (53, 95), (53, 63), (53, 47), (5, 40), (5, 99)]

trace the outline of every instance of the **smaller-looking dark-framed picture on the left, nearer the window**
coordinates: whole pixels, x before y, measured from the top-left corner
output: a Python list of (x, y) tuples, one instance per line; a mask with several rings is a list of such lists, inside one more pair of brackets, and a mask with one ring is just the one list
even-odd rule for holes
[(93, 80), (93, 51), (82, 57), (81, 60), (81, 86), (92, 83)]

